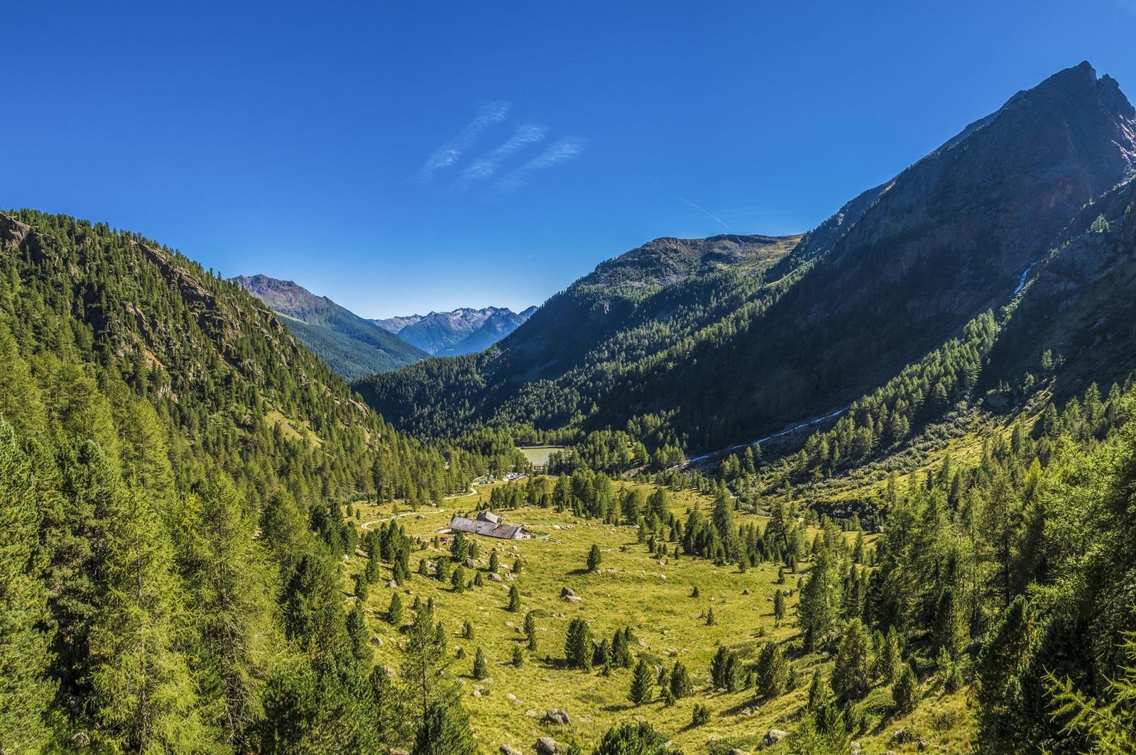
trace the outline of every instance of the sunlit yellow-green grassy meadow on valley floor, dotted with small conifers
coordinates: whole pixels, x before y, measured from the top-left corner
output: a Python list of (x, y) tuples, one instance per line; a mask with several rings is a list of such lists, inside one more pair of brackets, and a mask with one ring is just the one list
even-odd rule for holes
[[(632, 484), (617, 484), (619, 487), (627, 485)], [(645, 493), (653, 489), (642, 487)], [(369, 528), (396, 515), (407, 535), (431, 543), (451, 515), (476, 509), (478, 503), (487, 501), (488, 489), (490, 486), (478, 486), (476, 494), (450, 498), (437, 509), (417, 512), (404, 507), (396, 510), (391, 504), (356, 504), (357, 518)], [(705, 509), (710, 503), (691, 492), (671, 493), (670, 502), (674, 512), (683, 517), (687, 507), (700, 503)], [(474, 536), (481, 548), (477, 567), (483, 572), (484, 587), (456, 593), (449, 580), (441, 582), (415, 574), (398, 588), (407, 614), (416, 597), (433, 598), (435, 612), (451, 637), (451, 652), (462, 648), (463, 658), (456, 661), (451, 671), (461, 685), (462, 702), (470, 713), (479, 752), (498, 752), (501, 745), (528, 752), (542, 736), (553, 737), (563, 745), (575, 741), (587, 752), (609, 728), (625, 721), (648, 720), (685, 753), (725, 754), (732, 748), (745, 752), (759, 748), (769, 729), (792, 731), (795, 728), (799, 712), (808, 699), (813, 671), (819, 668), (827, 674), (832, 665), (827, 654), (800, 651), (800, 631), (794, 619), (800, 574), (786, 574), (785, 584), (779, 586), (775, 563), (765, 563), (743, 573), (736, 565), (716, 567), (698, 557), (657, 559), (648, 553), (645, 544), (637, 542), (633, 527), (609, 526), (551, 509), (524, 507), (501, 513), (508, 523), (524, 523), (535, 536), (517, 542)], [(738, 512), (738, 525), (753, 521), (766, 523), (765, 518)], [(587, 572), (585, 564), (593, 544), (599, 546), (602, 562), (595, 572)], [(411, 569), (417, 568), (419, 559), (433, 560), (446, 554), (445, 548), (442, 543), (436, 548), (416, 551), (411, 554)], [(500, 582), (491, 580), (486, 572), (493, 548), (501, 564)], [(366, 564), (360, 554), (345, 556), (349, 579), (344, 590), (348, 595), (351, 595), (350, 577)], [(521, 560), (523, 569), (513, 574), (511, 567), (516, 557)], [(807, 568), (802, 565), (801, 571)], [(466, 577), (473, 579), (473, 570), (467, 569)], [(391, 594), (395, 590), (386, 587), (387, 580), (390, 572), (384, 571), (371, 587), (367, 618), (376, 637), (377, 662), (396, 665), (400, 635), (385, 618)], [(513, 584), (521, 594), (519, 612), (508, 610), (509, 588)], [(582, 598), (578, 603), (561, 599), (561, 588), (566, 586)], [(692, 597), (694, 587), (699, 589), (696, 598)], [(792, 590), (786, 599), (786, 619), (779, 626), (772, 610), (772, 595), (777, 589)], [(715, 622), (708, 626), (705, 616), (711, 609)], [(535, 654), (527, 651), (523, 630), (525, 614), (529, 611), (537, 618)], [(650, 704), (634, 706), (627, 698), (630, 669), (612, 669), (605, 677), (599, 669), (584, 672), (566, 668), (565, 637), (575, 616), (591, 623), (596, 640), (610, 638), (623, 627), (632, 627), (638, 640), (637, 646), (632, 647), (633, 654), (636, 657), (644, 655), (655, 669), (665, 665), (669, 670), (676, 660), (682, 661), (692, 676), (694, 694), (669, 707), (658, 695)], [(462, 637), (466, 621), (473, 626), (473, 639)], [(750, 666), (768, 640), (788, 643), (787, 655), (796, 672), (796, 686), (792, 691), (772, 701), (760, 701), (752, 689), (734, 694), (711, 689), (710, 661), (719, 644), (736, 651)], [(516, 646), (525, 654), (520, 668), (511, 662)], [(488, 678), (481, 681), (470, 673), (477, 648), (485, 653), (488, 662)], [(917, 732), (916, 740), (924, 738), (936, 750), (946, 747), (951, 753), (969, 752), (971, 716), (966, 688), (954, 695), (944, 695), (930, 677), (925, 680), (924, 694), (914, 713), (895, 719), (891, 716), (889, 689), (883, 687), (869, 693), (860, 704), (868, 714), (869, 730), (853, 737), (863, 746), (862, 752), (914, 752), (914, 741), (893, 740), (893, 732), (901, 728)], [(691, 725), (695, 704), (710, 708), (710, 720), (704, 725)], [(565, 708), (571, 716), (571, 724), (543, 723), (542, 716), (551, 708)]]

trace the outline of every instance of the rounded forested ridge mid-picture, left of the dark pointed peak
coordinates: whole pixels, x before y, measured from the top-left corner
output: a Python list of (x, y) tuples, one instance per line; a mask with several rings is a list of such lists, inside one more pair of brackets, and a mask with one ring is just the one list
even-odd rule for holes
[(553, 295), (491, 352), (426, 360), (354, 387), (426, 435), (495, 421), (578, 423), (596, 392), (628, 366), (741, 308), (762, 307), (765, 271), (797, 240), (658, 238)]

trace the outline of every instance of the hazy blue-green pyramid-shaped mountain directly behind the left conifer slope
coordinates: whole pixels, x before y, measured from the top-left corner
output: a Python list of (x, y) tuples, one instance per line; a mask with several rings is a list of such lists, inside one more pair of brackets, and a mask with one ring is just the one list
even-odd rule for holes
[(284, 324), (301, 343), (348, 380), (393, 370), (427, 356), (426, 352), (392, 336), (370, 320), (291, 280), (264, 275), (237, 276), (233, 280), (282, 314)]

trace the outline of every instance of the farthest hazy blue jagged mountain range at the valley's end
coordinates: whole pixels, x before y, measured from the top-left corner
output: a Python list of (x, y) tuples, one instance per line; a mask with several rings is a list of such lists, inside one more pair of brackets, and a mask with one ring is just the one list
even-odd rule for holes
[(435, 356), (457, 356), (488, 349), (524, 325), (535, 311), (535, 307), (523, 312), (503, 307), (462, 307), (452, 312), (391, 317), (371, 322)]

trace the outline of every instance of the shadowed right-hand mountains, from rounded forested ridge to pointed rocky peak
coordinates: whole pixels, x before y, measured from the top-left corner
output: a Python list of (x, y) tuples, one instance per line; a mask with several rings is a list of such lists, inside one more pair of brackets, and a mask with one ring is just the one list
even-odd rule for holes
[(550, 300), (499, 353), (358, 387), (425, 435), (610, 428), (688, 452), (760, 437), (846, 405), (1005, 304), (1134, 167), (1136, 112), (1081, 64), (849, 202), (760, 282), (728, 252), (707, 275), (648, 245)]

